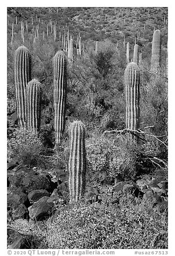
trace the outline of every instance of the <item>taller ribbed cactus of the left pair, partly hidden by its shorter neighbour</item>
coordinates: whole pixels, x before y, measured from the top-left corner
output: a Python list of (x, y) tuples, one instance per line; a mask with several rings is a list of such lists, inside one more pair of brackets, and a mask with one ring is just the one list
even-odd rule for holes
[(31, 54), (25, 46), (20, 46), (14, 53), (14, 81), (17, 101), (17, 118), (20, 130), (26, 127), (27, 83), (31, 81)]

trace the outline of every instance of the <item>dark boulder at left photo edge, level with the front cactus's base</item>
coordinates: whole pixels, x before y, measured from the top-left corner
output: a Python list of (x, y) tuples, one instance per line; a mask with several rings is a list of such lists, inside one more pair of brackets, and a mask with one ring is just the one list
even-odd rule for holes
[(7, 205), (8, 205), (8, 210), (16, 210), (20, 204), (27, 205), (28, 202), (28, 197), (27, 195), (21, 191), (19, 188), (9, 188), (7, 196)]

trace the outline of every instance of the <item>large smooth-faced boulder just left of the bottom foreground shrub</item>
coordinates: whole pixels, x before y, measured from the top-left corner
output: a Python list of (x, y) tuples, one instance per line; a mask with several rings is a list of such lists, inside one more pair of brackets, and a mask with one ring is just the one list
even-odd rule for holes
[[(49, 199), (51, 200), (48, 201)], [(37, 202), (33, 203), (33, 205), (28, 208), (29, 217), (31, 219), (41, 221), (45, 217), (53, 214), (53, 212), (56, 210), (53, 201), (54, 198), (50, 198), (48, 196), (41, 197)]]

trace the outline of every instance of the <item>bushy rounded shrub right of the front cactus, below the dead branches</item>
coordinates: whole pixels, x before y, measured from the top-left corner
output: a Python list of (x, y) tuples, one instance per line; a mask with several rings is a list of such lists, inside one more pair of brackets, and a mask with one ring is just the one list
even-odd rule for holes
[(87, 181), (98, 180), (99, 173), (123, 179), (133, 179), (140, 162), (139, 145), (128, 135), (93, 135), (86, 140)]

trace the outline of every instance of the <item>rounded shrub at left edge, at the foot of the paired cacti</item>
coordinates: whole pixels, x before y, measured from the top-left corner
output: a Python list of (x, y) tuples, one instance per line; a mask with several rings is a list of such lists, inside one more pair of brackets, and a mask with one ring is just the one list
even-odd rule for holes
[(28, 165), (40, 165), (40, 154), (43, 146), (37, 135), (30, 131), (13, 132), (13, 136), (8, 139), (8, 160), (17, 160)]

